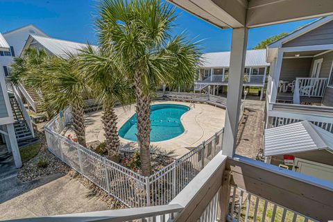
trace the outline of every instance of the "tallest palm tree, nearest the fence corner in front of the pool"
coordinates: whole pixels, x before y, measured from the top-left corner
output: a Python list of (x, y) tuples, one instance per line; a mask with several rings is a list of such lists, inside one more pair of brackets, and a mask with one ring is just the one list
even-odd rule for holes
[(163, 83), (194, 83), (200, 50), (184, 33), (173, 37), (175, 8), (160, 0), (102, 0), (96, 19), (99, 43), (115, 51), (135, 87), (137, 141), (142, 174), (151, 174), (150, 103)]

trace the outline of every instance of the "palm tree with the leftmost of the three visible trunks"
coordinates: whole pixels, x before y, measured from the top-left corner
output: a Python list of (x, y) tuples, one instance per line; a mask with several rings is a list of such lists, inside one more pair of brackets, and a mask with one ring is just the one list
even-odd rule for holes
[(75, 56), (68, 58), (54, 57), (49, 61), (43, 76), (43, 92), (45, 105), (55, 113), (71, 107), (73, 127), (78, 143), (87, 146), (85, 140), (85, 99), (91, 93), (87, 79), (77, 69), (78, 60)]

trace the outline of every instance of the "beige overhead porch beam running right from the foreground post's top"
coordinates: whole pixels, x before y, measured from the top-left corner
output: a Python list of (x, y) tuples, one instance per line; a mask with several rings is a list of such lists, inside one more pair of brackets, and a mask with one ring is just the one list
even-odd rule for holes
[(333, 15), (332, 0), (251, 0), (246, 27), (255, 28)]

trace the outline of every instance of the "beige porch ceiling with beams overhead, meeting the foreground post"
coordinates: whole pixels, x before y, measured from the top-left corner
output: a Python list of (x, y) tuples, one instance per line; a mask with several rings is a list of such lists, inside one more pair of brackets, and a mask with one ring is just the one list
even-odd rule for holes
[(332, 0), (167, 0), (219, 28), (254, 28), (333, 15)]

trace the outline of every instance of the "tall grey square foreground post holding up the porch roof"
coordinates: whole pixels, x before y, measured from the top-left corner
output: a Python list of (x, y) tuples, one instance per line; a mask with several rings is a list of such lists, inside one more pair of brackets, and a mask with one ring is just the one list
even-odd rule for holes
[(232, 29), (227, 110), (225, 112), (222, 148), (222, 154), (228, 155), (229, 157), (234, 155), (237, 144), (239, 109), (241, 105), (247, 42), (248, 28)]

